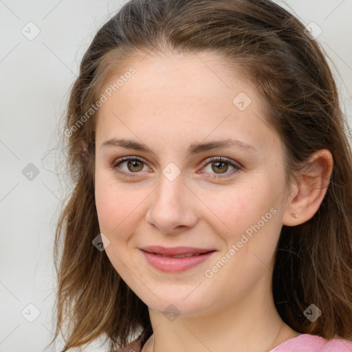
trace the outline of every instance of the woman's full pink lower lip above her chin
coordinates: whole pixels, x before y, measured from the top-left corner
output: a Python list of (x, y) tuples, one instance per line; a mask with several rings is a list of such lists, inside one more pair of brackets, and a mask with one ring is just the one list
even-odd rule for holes
[(183, 272), (197, 264), (203, 263), (215, 252), (208, 252), (199, 256), (185, 256), (184, 258), (170, 258), (168, 256), (157, 256), (156, 254), (142, 250), (146, 260), (158, 270), (163, 272)]

